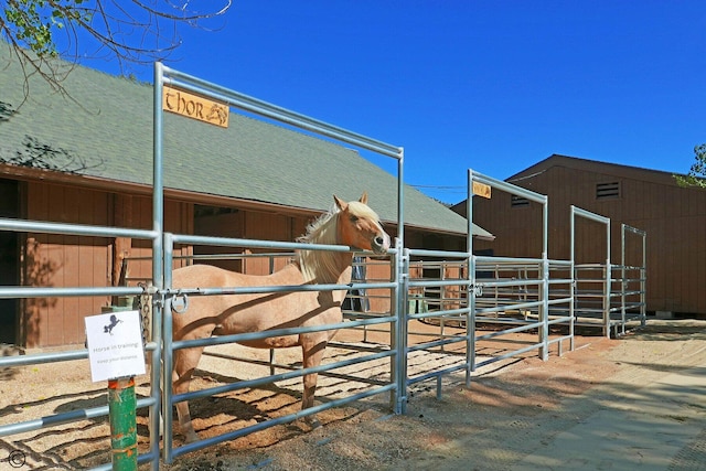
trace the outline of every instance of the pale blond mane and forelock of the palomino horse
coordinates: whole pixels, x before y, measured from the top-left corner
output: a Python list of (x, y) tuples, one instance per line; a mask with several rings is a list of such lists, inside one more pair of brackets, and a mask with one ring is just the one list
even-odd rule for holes
[[(377, 214), (366, 204), (357, 201), (349, 203), (349, 211), (361, 216), (377, 221)], [(328, 213), (311, 222), (307, 226), (307, 233), (297, 238), (297, 242), (306, 244), (336, 245), (338, 240), (338, 214), (340, 210), (334, 206)], [(336, 282), (342, 269), (340, 251), (330, 250), (299, 250), (297, 261), (304, 277), (304, 281)], [(347, 255), (347, 254), (346, 254)]]

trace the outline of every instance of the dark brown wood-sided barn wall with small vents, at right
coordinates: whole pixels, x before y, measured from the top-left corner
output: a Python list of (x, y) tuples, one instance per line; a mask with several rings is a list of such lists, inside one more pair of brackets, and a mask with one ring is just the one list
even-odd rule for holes
[[(706, 191), (682, 189), (664, 179), (618, 178), (599, 170), (556, 165), (514, 182), (549, 196), (549, 257), (569, 257), (571, 204), (610, 217), (612, 264), (621, 263), (622, 223), (648, 233), (648, 310), (706, 315)], [(620, 182), (618, 197), (596, 197), (596, 185), (606, 182)], [(473, 222), (496, 239), (478, 240), (474, 248), (491, 248), (503, 256), (536, 256), (542, 237), (539, 212), (534, 203), (511, 207), (510, 197), (502, 192), (494, 192), (491, 200), (475, 197)], [(605, 261), (603, 229), (591, 225), (598, 226), (577, 222), (577, 263)], [(641, 250), (641, 239), (629, 235), (627, 263), (637, 265)]]

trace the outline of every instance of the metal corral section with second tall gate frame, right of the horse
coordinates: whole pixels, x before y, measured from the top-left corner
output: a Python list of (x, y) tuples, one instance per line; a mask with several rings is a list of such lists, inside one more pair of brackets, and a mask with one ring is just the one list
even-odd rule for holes
[[(437, 395), (441, 394), (441, 378), (446, 374), (462, 371), (468, 384), (471, 373), (481, 366), (533, 350), (547, 360), (549, 347), (556, 344), (561, 354), (565, 342), (574, 349), (571, 263), (546, 257), (547, 197), (469, 170), (468, 188), (473, 189), (474, 183), (542, 204), (544, 245), (537, 258), (471, 255), (472, 237), (468, 238), (467, 251), (405, 249), (403, 292), (408, 299), (404, 303), (407, 309), (403, 325), (406, 329), (404, 336), (408, 339), (407, 351), (409, 354), (448, 352), (456, 358), (456, 362), (442, 362), (437, 368), (427, 368), (420, 374), (410, 373), (405, 365), (406, 385), (436, 379)], [(468, 202), (470, 227), (471, 195)], [(550, 315), (555, 309), (564, 309), (566, 313)], [(422, 324), (438, 329), (429, 330)], [(550, 334), (555, 324), (568, 325), (567, 332)], [(534, 333), (536, 341), (518, 342), (513, 335), (516, 333)], [(479, 345), (484, 341), (503, 342), (505, 347), (479, 355)]]

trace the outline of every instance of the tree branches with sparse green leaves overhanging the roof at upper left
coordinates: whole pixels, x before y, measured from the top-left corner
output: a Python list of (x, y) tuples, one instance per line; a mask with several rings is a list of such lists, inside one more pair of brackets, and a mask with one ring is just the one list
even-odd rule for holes
[[(225, 14), (232, 2), (4, 0), (0, 1), (0, 45), (7, 42), (20, 61), (25, 99), (31, 88), (29, 77), (34, 75), (71, 96), (63, 82), (73, 67), (65, 62), (76, 64), (79, 57), (95, 58), (99, 54), (100, 58), (117, 61), (121, 69), (126, 64), (151, 65), (182, 44), (179, 25), (193, 28), (201, 21), (212, 22)], [(51, 61), (53, 57), (65, 61)], [(0, 121), (7, 118), (0, 113)]]

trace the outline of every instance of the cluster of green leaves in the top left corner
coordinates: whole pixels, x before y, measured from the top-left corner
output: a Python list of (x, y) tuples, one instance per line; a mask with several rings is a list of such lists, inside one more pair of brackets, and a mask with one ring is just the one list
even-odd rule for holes
[(15, 45), (39, 57), (56, 56), (54, 32), (68, 23), (90, 21), (86, 0), (9, 0), (0, 12), (0, 31)]

